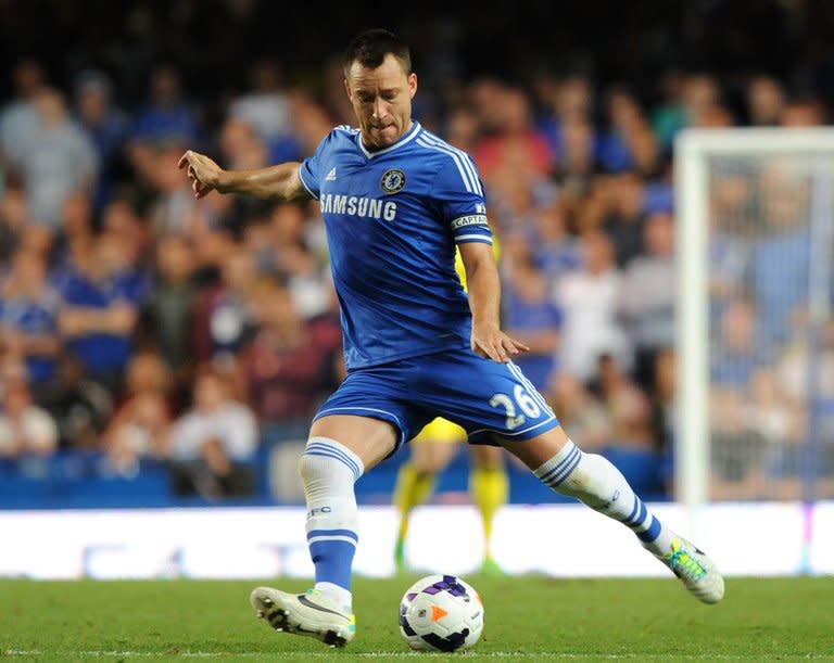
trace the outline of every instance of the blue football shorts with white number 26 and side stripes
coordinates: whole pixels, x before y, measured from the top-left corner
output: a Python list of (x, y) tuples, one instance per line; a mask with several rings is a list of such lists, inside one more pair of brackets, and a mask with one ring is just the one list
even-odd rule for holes
[(314, 421), (329, 415), (390, 421), (397, 447), (435, 417), (463, 426), (472, 444), (530, 439), (559, 425), (521, 369), (468, 348), (352, 370)]

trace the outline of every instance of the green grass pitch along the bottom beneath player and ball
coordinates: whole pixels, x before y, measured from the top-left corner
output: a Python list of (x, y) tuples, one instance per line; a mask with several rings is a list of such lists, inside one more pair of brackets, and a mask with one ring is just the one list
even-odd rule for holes
[(671, 578), (468, 576), (486, 622), (476, 648), (455, 654), (410, 652), (401, 639), (397, 605), (416, 577), (357, 579), (357, 637), (343, 650), (255, 620), (258, 583), (0, 581), (0, 659), (834, 661), (833, 577), (730, 578), (724, 601), (708, 607)]

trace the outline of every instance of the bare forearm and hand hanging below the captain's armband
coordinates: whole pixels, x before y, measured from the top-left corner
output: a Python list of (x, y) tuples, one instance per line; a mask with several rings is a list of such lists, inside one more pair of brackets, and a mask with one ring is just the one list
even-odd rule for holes
[(501, 279), (495, 267), (492, 245), (484, 242), (458, 244), (469, 288), (472, 311), (472, 350), (482, 357), (506, 364), (519, 353), (530, 349), (501, 331)]

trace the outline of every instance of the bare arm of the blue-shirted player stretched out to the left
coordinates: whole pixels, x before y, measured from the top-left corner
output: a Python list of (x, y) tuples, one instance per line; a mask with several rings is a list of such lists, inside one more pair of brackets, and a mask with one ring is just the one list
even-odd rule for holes
[(298, 162), (287, 162), (255, 170), (224, 170), (214, 161), (189, 150), (179, 160), (180, 168), (188, 168), (188, 179), (195, 199), (210, 191), (242, 193), (276, 202), (309, 197), (301, 182)]

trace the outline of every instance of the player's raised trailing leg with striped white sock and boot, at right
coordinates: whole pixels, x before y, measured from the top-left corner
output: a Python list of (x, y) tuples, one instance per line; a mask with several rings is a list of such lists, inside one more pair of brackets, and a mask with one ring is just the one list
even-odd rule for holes
[[(523, 447), (530, 445), (527, 449)], [(549, 459), (547, 449), (558, 448)], [(560, 447), (560, 448), (559, 448)], [(643, 546), (662, 561), (696, 598), (717, 603), (724, 596), (724, 578), (712, 560), (664, 525), (631, 489), (622, 473), (597, 454), (583, 454), (560, 428), (507, 448), (533, 473), (561, 495), (581, 500), (595, 511), (629, 527)]]

